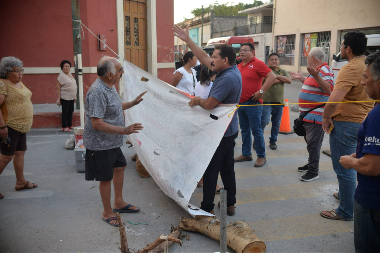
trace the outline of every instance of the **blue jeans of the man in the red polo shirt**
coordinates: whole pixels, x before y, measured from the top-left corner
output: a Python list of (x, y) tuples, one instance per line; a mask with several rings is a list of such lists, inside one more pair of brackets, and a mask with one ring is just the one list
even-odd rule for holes
[[(239, 105), (260, 105), (259, 102), (246, 101)], [(242, 155), (250, 156), (252, 148), (252, 137), (255, 138), (256, 154), (258, 158), (265, 157), (265, 141), (263, 128), (261, 127), (261, 113), (263, 106), (242, 106), (237, 109), (241, 129)]]

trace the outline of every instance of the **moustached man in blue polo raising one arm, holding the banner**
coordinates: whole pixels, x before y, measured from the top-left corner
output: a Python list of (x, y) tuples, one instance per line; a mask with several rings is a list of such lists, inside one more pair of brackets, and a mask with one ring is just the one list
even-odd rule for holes
[[(211, 110), (219, 103), (237, 104), (240, 100), (242, 80), (241, 74), (235, 65), (236, 51), (230, 45), (216, 45), (210, 61), (207, 53), (190, 39), (188, 28), (189, 26), (187, 26), (185, 31), (176, 25), (173, 27), (174, 35), (186, 42), (202, 64), (214, 72), (218, 72), (211, 87), (209, 97), (207, 99), (194, 97), (189, 102), (189, 105), (191, 107), (199, 105), (204, 109)], [(234, 147), (238, 130), (237, 115), (234, 114), (203, 175), (203, 201), (201, 202), (201, 209), (211, 214), (214, 214), (215, 188), (219, 172), (224, 189), (227, 191), (227, 215), (235, 214), (236, 180)]]

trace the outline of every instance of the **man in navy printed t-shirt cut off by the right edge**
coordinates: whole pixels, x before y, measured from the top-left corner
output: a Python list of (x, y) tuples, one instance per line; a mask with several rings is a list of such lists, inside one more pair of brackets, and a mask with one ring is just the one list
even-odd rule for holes
[[(380, 52), (367, 56), (361, 84), (368, 97), (380, 100)], [(359, 128), (358, 148), (340, 164), (357, 171), (354, 201), (355, 252), (380, 250), (380, 105), (377, 102)]]

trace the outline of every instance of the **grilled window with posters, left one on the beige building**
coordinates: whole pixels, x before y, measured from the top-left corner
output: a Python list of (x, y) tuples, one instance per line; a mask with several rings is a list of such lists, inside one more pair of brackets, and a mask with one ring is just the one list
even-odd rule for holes
[(296, 34), (277, 36), (276, 41), (277, 41), (277, 53), (280, 55), (280, 64), (294, 66), (294, 51), (296, 49)]

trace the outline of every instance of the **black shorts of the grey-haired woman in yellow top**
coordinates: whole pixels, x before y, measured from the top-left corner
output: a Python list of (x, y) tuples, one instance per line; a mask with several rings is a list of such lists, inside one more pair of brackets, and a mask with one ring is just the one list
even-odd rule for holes
[[(26, 148), (26, 133), (21, 133), (8, 126), (8, 137), (11, 138), (11, 144), (0, 144), (0, 153), (5, 156), (13, 156), (16, 151), (25, 151)], [(0, 138), (0, 142), (3, 139)]]

